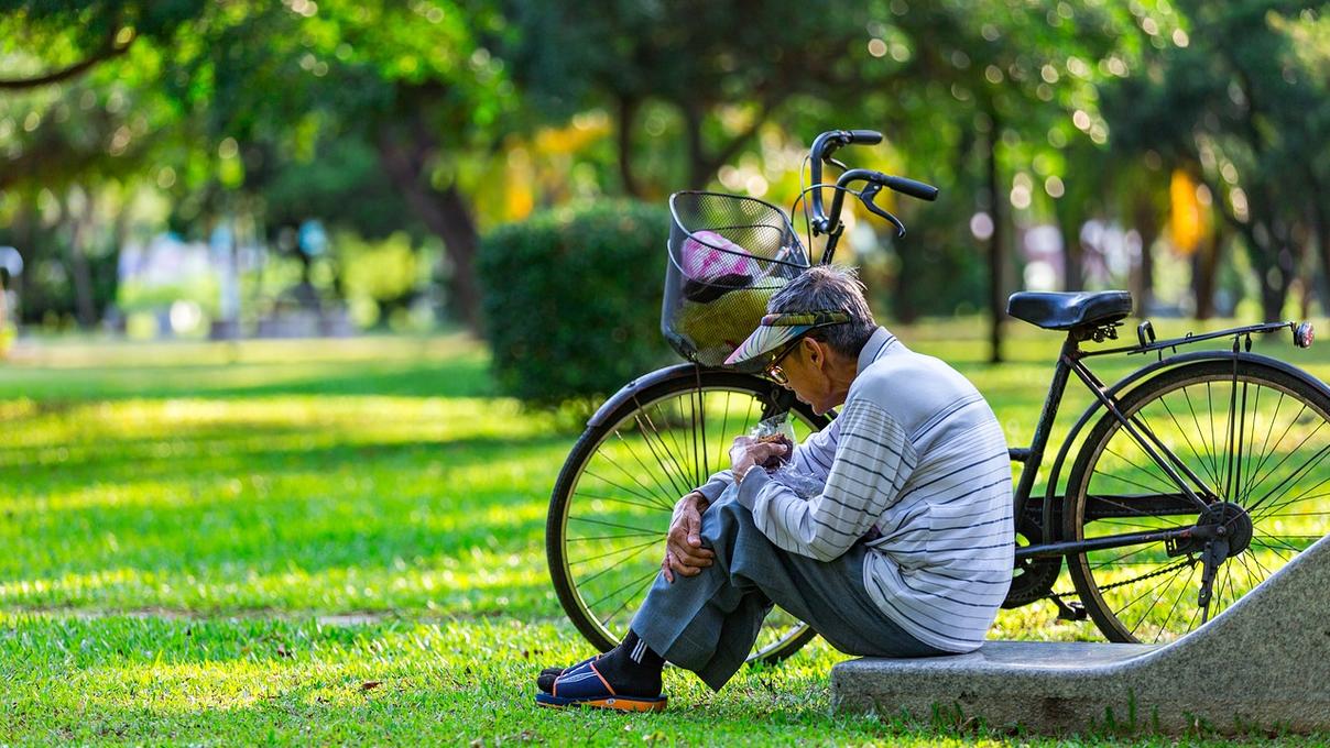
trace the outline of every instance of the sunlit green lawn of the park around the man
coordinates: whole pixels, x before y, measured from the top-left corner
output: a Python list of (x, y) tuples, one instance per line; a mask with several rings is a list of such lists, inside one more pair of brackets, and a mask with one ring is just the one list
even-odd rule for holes
[[(1028, 441), (1056, 336), (994, 368), (978, 324), (899, 332)], [(535, 671), (588, 650), (543, 546), (576, 433), (495, 397), (462, 337), (28, 343), (0, 364), (0, 743), (1008, 737), (831, 716), (825, 644), (720, 694), (670, 671), (664, 715), (533, 707)], [(1097, 639), (1052, 612), (994, 636)]]

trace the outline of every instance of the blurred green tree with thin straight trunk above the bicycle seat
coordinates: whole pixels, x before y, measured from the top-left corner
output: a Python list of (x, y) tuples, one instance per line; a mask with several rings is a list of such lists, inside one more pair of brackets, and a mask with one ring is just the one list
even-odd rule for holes
[[(996, 363), (1003, 357), (1015, 211), (1052, 202), (1047, 210), (1079, 226), (1093, 205), (1060, 202), (1065, 183), (1080, 179), (1068, 171), (1064, 149), (1085, 162), (1097, 159), (1107, 142), (1095, 84), (1116, 53), (1117, 20), (1092, 3), (890, 7), (894, 19), (883, 36), (891, 44), (884, 50), (899, 68), (886, 89), (884, 110), (894, 113), (896, 147), (908, 154), (908, 163), (955, 163), (954, 174), (968, 174), (956, 186), (982, 195), (971, 206), (984, 210), (992, 225), (984, 306)], [(1044, 178), (1041, 185), (1032, 171)]]

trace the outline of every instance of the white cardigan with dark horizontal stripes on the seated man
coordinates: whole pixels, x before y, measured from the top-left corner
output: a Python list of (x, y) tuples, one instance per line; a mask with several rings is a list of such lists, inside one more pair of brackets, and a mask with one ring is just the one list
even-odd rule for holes
[[(884, 328), (858, 363), (841, 415), (790, 460), (825, 484), (822, 493), (802, 500), (753, 470), (738, 501), (777, 546), (821, 561), (875, 529), (863, 583), (882, 612), (939, 650), (975, 650), (1012, 578), (1001, 428), (960, 373)], [(701, 492), (716, 501), (730, 482), (729, 470), (717, 473)]]

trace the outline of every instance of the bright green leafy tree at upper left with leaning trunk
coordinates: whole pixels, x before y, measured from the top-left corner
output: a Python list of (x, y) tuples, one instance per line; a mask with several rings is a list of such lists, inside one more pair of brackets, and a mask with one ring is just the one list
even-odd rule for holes
[[(403, 201), (444, 242), (456, 315), (479, 324), (466, 163), (501, 137), (513, 97), (487, 48), (503, 29), (487, 4), (106, 0), (0, 9), (9, 11), (9, 28), (25, 32), (9, 39), (60, 40), (52, 60), (29, 50), (33, 72), (11, 77), (12, 86), (66, 81), (98, 64), (125, 70), (130, 48), (148, 48), (160, 60), (154, 88), (165, 82), (181, 114), (202, 121), (213, 147), (230, 142), (246, 158), (267, 147), (310, 157), (321, 138), (372, 143)], [(227, 167), (235, 178), (222, 174), (222, 186), (249, 193), (262, 191), (271, 174), (245, 159)]]

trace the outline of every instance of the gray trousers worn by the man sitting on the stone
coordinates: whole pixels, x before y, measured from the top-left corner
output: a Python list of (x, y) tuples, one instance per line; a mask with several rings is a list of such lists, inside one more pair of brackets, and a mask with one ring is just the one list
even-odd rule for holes
[(863, 656), (948, 654), (919, 642), (868, 597), (867, 547), (823, 562), (777, 547), (728, 489), (702, 514), (702, 545), (716, 551), (696, 577), (656, 577), (632, 628), (666, 660), (720, 690), (747, 658), (771, 605), (806, 622), (833, 647)]

